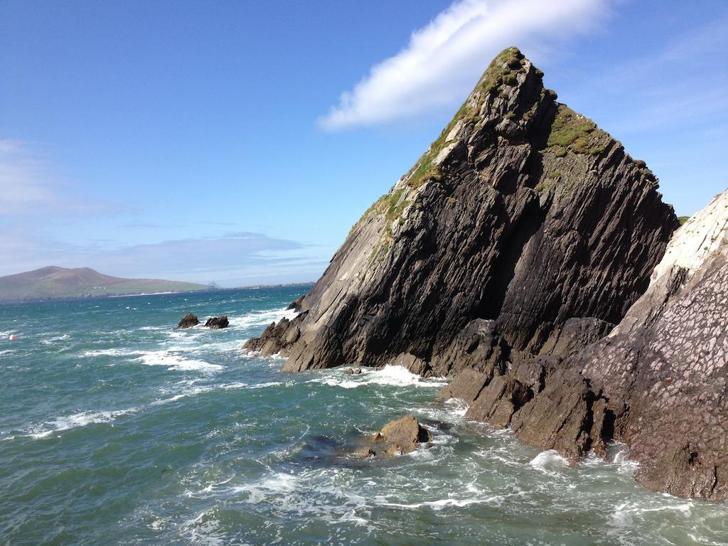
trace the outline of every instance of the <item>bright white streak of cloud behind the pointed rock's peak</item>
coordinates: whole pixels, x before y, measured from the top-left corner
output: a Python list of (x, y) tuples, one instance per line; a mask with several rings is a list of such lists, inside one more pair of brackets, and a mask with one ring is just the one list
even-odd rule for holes
[(529, 53), (590, 30), (607, 12), (607, 0), (456, 1), (344, 92), (319, 124), (341, 130), (452, 106), (505, 47)]

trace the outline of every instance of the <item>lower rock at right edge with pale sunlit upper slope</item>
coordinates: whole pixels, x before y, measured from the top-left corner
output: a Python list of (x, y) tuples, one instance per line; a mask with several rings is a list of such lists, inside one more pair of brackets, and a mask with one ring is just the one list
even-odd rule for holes
[(441, 395), (571, 461), (622, 440), (649, 488), (728, 499), (727, 258), (728, 191), (676, 232), (609, 336), (495, 379), (464, 371)]

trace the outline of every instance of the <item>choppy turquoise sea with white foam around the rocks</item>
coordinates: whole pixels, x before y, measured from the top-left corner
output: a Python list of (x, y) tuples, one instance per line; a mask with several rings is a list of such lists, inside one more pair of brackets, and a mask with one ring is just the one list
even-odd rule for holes
[[(727, 505), (646, 491), (620, 446), (568, 467), (443, 381), (242, 354), (300, 292), (0, 306), (0, 545), (728, 543)], [(231, 328), (173, 330), (186, 312)], [(404, 414), (432, 446), (347, 455)]]

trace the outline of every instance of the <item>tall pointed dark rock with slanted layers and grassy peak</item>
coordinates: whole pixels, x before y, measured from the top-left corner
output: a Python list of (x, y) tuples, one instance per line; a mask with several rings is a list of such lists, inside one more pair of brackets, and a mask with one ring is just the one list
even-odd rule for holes
[(654, 175), (512, 48), (352, 228), (301, 314), (246, 347), (280, 352), (285, 371), (498, 375), (618, 323), (676, 226)]

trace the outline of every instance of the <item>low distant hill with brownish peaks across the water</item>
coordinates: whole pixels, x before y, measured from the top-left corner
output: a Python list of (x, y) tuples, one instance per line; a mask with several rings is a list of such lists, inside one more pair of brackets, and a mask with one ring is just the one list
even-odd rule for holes
[(66, 269), (49, 266), (0, 277), (0, 302), (191, 292), (210, 288), (194, 282), (111, 277), (88, 267)]

